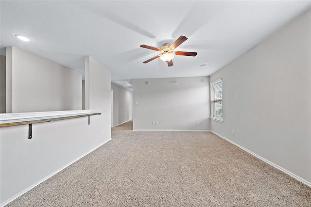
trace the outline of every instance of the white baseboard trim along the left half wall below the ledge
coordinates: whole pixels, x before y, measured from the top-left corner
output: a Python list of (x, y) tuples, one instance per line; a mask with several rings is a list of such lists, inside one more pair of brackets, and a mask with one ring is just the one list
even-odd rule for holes
[(19, 196), (21, 196), (22, 194), (26, 193), (27, 191), (30, 191), (31, 189), (35, 188), (37, 185), (39, 185), (40, 183), (46, 181), (47, 179), (49, 179), (50, 177), (52, 177), (53, 175), (59, 173), (60, 171), (64, 170), (65, 168), (67, 168), (69, 165), (71, 165), (72, 163), (78, 161), (79, 159), (85, 157), (87, 154), (93, 152), (95, 149), (99, 148), (100, 146), (104, 145), (105, 143), (109, 142), (111, 140), (111, 138), (109, 140), (107, 140), (104, 143), (101, 143), (100, 145), (94, 147), (93, 149), (87, 151), (85, 154), (81, 155), (80, 157), (78, 157), (77, 159), (74, 159), (73, 161), (69, 162), (68, 164), (66, 164), (65, 166), (59, 168), (58, 170), (54, 171), (53, 173), (51, 173), (50, 175), (47, 175), (46, 177), (42, 178), (41, 180), (39, 180), (38, 182), (34, 183), (33, 185), (31, 185), (30, 187), (26, 188), (23, 191), (20, 191), (19, 193), (17, 193), (16, 195), (12, 196), (11, 198), (9, 198), (8, 200), (4, 201), (3, 203), (0, 204), (0, 207), (4, 207), (5, 205), (11, 203), (12, 201), (14, 201), (15, 199), (17, 199)]

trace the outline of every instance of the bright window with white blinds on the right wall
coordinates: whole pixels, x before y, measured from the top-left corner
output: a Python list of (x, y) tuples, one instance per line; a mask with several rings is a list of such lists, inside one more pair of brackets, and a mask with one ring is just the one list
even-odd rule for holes
[(223, 122), (222, 80), (216, 80), (210, 85), (210, 118)]

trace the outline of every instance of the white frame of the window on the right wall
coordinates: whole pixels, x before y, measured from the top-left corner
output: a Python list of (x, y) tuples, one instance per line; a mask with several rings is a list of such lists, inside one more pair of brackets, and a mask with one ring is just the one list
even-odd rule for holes
[[(215, 91), (215, 86), (221, 83), (220, 97), (215, 97), (216, 94), (219, 94), (219, 91)], [(224, 121), (223, 116), (223, 83), (222, 79), (215, 80), (209, 83), (210, 87), (210, 119), (218, 122)], [(221, 116), (217, 116), (219, 113), (216, 111), (216, 103), (221, 104)]]

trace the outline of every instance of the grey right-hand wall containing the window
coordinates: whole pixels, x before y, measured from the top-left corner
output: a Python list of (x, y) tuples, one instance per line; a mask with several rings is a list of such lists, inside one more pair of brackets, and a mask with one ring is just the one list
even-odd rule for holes
[(212, 131), (311, 185), (311, 11), (210, 81), (219, 78), (224, 122)]

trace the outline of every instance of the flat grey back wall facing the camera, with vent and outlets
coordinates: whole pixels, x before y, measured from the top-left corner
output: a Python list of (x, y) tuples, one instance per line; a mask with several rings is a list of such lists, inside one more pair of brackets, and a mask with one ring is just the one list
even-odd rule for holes
[(210, 130), (209, 100), (209, 77), (134, 79), (133, 129)]

